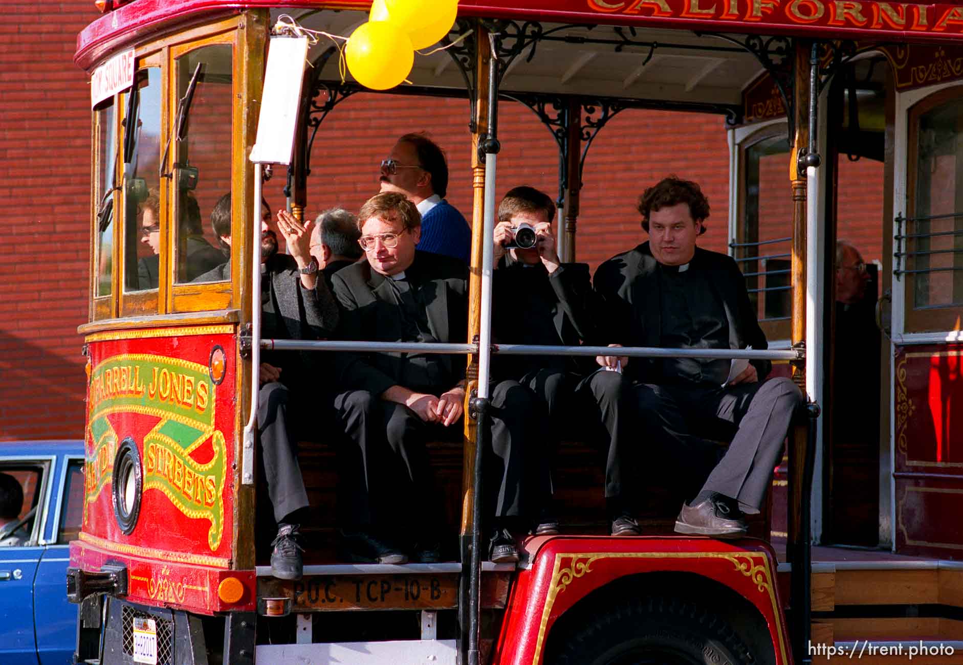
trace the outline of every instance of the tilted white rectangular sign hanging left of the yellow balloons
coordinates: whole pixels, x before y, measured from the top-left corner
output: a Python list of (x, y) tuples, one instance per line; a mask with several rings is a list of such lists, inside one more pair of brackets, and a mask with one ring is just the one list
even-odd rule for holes
[(291, 164), (306, 59), (306, 37), (271, 38), (251, 162)]

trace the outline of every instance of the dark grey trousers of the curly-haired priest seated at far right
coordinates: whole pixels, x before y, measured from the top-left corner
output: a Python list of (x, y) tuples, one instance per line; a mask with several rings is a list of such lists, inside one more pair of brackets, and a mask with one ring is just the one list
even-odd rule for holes
[[(788, 378), (731, 388), (640, 384), (638, 407), (662, 469), (693, 498), (701, 490), (758, 513), (802, 393)], [(711, 433), (711, 434), (710, 434)], [(718, 439), (732, 438), (728, 448)], [(694, 491), (693, 491), (694, 490)]]

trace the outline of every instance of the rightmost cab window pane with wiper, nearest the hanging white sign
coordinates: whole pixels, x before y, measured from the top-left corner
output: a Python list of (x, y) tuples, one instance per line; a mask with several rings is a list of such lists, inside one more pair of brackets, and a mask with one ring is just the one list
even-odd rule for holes
[(179, 220), (174, 281), (179, 284), (231, 276), (231, 53), (231, 44), (214, 44), (175, 61), (181, 101), (174, 126), (182, 128), (174, 150), (174, 216)]

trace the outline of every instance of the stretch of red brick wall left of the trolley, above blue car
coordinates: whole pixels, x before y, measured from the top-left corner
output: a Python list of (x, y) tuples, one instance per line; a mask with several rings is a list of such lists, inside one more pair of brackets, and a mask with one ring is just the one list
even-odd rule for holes
[(0, 0), (0, 439), (79, 437), (91, 111), (73, 65), (93, 2)]

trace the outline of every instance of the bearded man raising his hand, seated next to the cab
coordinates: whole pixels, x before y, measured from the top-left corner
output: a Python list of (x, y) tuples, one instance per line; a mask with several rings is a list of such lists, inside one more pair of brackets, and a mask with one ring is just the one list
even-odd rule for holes
[[(277, 251), (277, 234), (284, 236), (290, 254)], [(317, 340), (328, 337), (338, 323), (338, 308), (318, 262), (308, 249), (312, 221), (301, 224), (284, 210), (276, 221), (261, 220), (261, 337), (278, 340)], [(229, 230), (229, 227), (228, 227)], [(228, 236), (229, 244), (229, 236)], [(230, 278), (230, 263), (197, 278), (198, 282)], [(298, 440), (288, 415), (291, 396), (309, 385), (310, 358), (306, 353), (267, 351), (261, 354), (257, 422), (260, 460), (268, 498), (277, 523), (272, 543), (272, 575), (281, 579), (301, 576), (299, 524), (306, 517), (308, 500), (298, 465)]]

